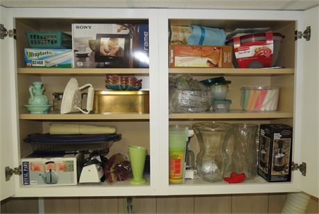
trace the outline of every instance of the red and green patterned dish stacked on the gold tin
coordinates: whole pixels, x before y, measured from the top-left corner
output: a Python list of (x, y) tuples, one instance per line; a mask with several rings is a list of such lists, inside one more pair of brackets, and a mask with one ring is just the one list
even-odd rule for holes
[(106, 75), (105, 87), (115, 91), (138, 91), (141, 81), (134, 76)]

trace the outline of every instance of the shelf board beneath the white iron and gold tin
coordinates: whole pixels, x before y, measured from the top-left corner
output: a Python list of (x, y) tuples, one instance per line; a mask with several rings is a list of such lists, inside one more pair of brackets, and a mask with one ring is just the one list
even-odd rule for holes
[(74, 121), (74, 120), (148, 120), (149, 114), (20, 114), (20, 120)]

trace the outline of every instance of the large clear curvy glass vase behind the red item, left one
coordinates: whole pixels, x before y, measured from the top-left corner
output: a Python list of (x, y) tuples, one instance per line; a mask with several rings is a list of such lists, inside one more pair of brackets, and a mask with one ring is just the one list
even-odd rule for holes
[(226, 144), (232, 132), (232, 125), (215, 122), (195, 123), (193, 130), (200, 146), (200, 152), (196, 157), (198, 174), (205, 181), (222, 181), (229, 164)]

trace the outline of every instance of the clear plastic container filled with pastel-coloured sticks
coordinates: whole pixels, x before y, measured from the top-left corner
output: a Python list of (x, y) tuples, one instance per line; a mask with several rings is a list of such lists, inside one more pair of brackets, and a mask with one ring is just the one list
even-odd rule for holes
[(241, 107), (245, 111), (277, 111), (279, 87), (242, 87)]

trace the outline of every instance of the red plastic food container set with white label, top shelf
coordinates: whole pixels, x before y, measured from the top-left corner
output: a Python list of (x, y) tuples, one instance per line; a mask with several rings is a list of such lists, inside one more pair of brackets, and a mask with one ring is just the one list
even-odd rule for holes
[(275, 66), (284, 35), (259, 33), (234, 37), (226, 42), (233, 46), (235, 68), (260, 68)]

